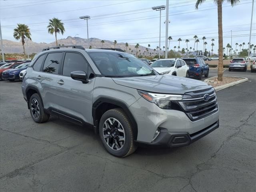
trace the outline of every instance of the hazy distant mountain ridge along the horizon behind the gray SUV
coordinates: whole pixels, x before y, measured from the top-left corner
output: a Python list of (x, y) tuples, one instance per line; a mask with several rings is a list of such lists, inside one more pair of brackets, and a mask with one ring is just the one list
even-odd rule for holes
[[(108, 40), (104, 40), (104, 42), (105, 43), (103, 44), (103, 48), (114, 48), (114, 42), (108, 41)], [(101, 40), (97, 39), (97, 38), (83, 39), (83, 38), (80, 38), (80, 37), (68, 36), (66, 39), (59, 39), (58, 44), (60, 44), (60, 45), (81, 45), (84, 48), (89, 48), (89, 46), (92, 46), (92, 48), (102, 48)], [(21, 42), (3, 40), (3, 45), (4, 45), (4, 52), (5, 53), (22, 53), (23, 52)], [(25, 43), (25, 50), (26, 50), (26, 53), (29, 53), (29, 54), (38, 53), (38, 52), (42, 51), (43, 48), (52, 47), (52, 46), (56, 46), (55, 42), (36, 43), (36, 42), (28, 40)], [(117, 43), (116, 48), (126, 50), (125, 43)], [(129, 50), (129, 49), (131, 49), (131, 50)], [(146, 53), (144, 51), (146, 51), (146, 47), (139, 46), (138, 55), (143, 55), (143, 53), (144, 53), (145, 56), (146, 55), (149, 56), (150, 52), (151, 52), (152, 55), (156, 54), (156, 51), (154, 52), (154, 49), (149, 49), (148, 53)], [(132, 54), (136, 54), (135, 46), (129, 44), (129, 46), (127, 47), (127, 52), (132, 53)]]

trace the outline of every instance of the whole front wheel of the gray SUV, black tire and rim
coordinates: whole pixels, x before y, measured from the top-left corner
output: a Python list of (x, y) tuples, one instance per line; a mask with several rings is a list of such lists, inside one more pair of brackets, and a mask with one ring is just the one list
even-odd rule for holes
[[(112, 122), (114, 122), (112, 124), (114, 125), (113, 127), (110, 127), (111, 124), (108, 123), (108, 120), (112, 120)], [(105, 122), (109, 126), (106, 129), (104, 128)], [(119, 130), (123, 130), (123, 132), (119, 132)], [(110, 109), (102, 115), (102, 117), (100, 118), (99, 133), (102, 144), (104, 145), (106, 150), (113, 156), (125, 157), (132, 154), (137, 148), (136, 144), (134, 143), (132, 124), (124, 111), (120, 108)], [(122, 141), (120, 142), (121, 136), (125, 138), (122, 145)], [(114, 144), (114, 142), (116, 144)], [(111, 144), (114, 144), (114, 146), (112, 145), (113, 148), (110, 147)]]

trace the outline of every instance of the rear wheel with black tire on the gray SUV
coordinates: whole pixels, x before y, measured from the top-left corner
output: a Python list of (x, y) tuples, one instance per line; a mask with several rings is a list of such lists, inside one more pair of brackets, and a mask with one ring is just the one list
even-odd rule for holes
[[(32, 107), (34, 105), (34, 107)], [(34, 122), (44, 123), (48, 121), (50, 115), (44, 112), (44, 107), (41, 98), (37, 93), (33, 94), (29, 100), (30, 114)], [(39, 108), (39, 114), (38, 114)], [(37, 114), (37, 115), (36, 115)]]

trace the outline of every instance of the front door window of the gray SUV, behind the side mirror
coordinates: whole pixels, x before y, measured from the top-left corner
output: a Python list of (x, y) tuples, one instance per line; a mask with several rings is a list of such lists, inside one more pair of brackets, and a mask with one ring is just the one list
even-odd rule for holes
[(66, 53), (63, 64), (63, 75), (70, 76), (73, 71), (84, 71), (87, 73), (88, 64), (82, 55), (78, 53)]

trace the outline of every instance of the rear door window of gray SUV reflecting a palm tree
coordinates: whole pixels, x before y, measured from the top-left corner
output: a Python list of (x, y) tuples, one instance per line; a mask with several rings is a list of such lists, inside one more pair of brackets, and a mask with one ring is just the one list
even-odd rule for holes
[(43, 72), (58, 74), (61, 65), (62, 52), (49, 53), (44, 62)]

